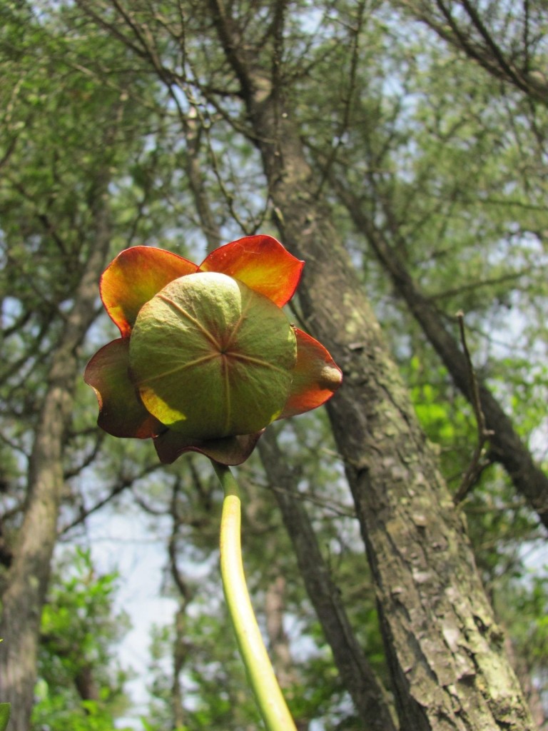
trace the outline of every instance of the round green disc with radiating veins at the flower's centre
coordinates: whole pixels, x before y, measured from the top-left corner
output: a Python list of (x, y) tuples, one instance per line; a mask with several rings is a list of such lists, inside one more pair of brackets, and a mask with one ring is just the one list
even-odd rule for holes
[(281, 308), (218, 272), (180, 277), (142, 306), (129, 349), (143, 404), (188, 439), (270, 424), (286, 403), (296, 360)]

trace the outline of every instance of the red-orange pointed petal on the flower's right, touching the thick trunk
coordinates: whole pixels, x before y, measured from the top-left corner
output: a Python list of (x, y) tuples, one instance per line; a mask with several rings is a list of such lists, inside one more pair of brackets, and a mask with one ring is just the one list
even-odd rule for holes
[(291, 393), (280, 419), (316, 409), (338, 389), (343, 374), (324, 346), (294, 328), (297, 338), (297, 365), (293, 370)]

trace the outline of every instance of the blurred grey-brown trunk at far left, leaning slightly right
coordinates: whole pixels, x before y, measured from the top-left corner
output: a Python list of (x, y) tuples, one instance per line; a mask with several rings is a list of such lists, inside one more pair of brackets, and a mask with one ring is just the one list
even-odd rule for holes
[(0, 637), (4, 642), (0, 648), (0, 699), (12, 703), (10, 731), (28, 731), (30, 724), (42, 606), (64, 486), (64, 438), (80, 368), (77, 351), (95, 317), (97, 282), (110, 243), (104, 200), (98, 208), (96, 240), (53, 354), (31, 452), (23, 524), (1, 599)]

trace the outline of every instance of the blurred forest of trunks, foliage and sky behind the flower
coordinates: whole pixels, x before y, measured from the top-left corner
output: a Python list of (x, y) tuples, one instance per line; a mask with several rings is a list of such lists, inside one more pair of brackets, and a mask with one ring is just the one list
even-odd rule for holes
[(12, 731), (258, 727), (210, 464), (106, 436), (82, 379), (115, 254), (256, 232), (345, 376), (237, 470), (299, 729), (548, 728), (547, 32), (542, 0), (0, 4)]

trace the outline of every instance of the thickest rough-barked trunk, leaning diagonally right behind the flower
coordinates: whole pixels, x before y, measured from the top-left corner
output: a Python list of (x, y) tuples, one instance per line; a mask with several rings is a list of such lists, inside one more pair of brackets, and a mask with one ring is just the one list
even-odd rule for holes
[[(362, 537), (402, 727), (414, 731), (525, 731), (533, 727), (465, 534), (435, 457), (381, 336), (327, 202), (302, 150), (279, 74), (284, 4), (273, 58), (209, 0), (218, 39), (240, 83), (262, 154), (283, 242), (306, 260), (306, 324), (343, 368), (330, 401)], [(265, 48), (262, 39), (262, 50)]]

